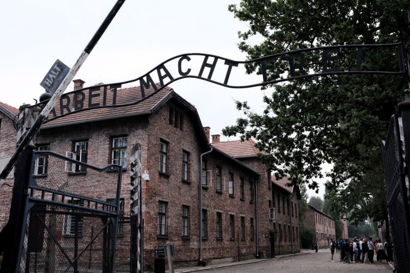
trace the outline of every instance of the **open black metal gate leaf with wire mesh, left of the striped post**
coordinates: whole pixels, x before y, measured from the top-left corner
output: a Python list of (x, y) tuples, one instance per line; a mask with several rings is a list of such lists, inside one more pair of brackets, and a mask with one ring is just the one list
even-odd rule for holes
[(115, 255), (127, 225), (122, 167), (97, 168), (77, 158), (33, 151), (16, 271), (113, 272), (116, 263), (129, 271), (130, 256)]

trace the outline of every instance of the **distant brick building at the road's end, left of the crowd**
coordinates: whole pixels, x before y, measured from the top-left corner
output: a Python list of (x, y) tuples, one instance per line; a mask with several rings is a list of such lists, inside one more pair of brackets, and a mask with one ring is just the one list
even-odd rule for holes
[(315, 231), (319, 247), (329, 247), (331, 239), (336, 240), (335, 220), (311, 205), (306, 216), (306, 227)]

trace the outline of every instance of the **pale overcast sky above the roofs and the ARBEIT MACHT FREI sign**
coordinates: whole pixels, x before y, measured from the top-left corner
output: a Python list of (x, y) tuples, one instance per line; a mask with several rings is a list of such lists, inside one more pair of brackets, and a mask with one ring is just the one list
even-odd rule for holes
[[(126, 0), (74, 79), (84, 80), (85, 86), (127, 81), (182, 53), (209, 53), (243, 61), (246, 54), (237, 48), (237, 32), (248, 26), (228, 11), (229, 4), (238, 3)], [(71, 68), (114, 4), (114, 0), (3, 2), (0, 101), (14, 107), (34, 104), (33, 99), (38, 100), (44, 92), (39, 83), (54, 61), (59, 59)], [(191, 66), (194, 69), (195, 64)], [(168, 69), (172, 73), (173, 68)], [(258, 82), (261, 76), (246, 75), (241, 67), (230, 77), (230, 83), (236, 85)], [(260, 113), (263, 94), (271, 92), (259, 87), (230, 89), (197, 79), (183, 79), (170, 87), (195, 105), (202, 125), (210, 126), (211, 134), (221, 134), (224, 126), (235, 123), (240, 113), (234, 100), (248, 101)], [(70, 85), (66, 92), (72, 90)], [(223, 141), (234, 139), (221, 137)], [(319, 195), (323, 192), (321, 187)]]

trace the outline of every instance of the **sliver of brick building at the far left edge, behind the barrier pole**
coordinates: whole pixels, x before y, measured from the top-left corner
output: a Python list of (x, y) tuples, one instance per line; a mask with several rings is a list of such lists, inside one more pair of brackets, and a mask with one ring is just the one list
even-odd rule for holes
[[(0, 102), (0, 171), (9, 162), (16, 148), (17, 130), (14, 126), (19, 110)], [(13, 186), (13, 171), (7, 179), (0, 182), (0, 230), (3, 229), (9, 218)]]

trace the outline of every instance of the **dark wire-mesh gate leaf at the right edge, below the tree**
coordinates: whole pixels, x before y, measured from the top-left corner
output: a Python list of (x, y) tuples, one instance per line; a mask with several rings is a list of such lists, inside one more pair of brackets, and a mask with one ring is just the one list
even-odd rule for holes
[[(403, 116), (403, 119), (405, 117)], [(403, 121), (404, 122), (404, 121)], [(408, 176), (403, 163), (405, 133), (401, 118), (393, 115), (386, 141), (382, 142), (389, 221), (397, 272), (410, 272)], [(408, 165), (407, 165), (408, 166)]]

